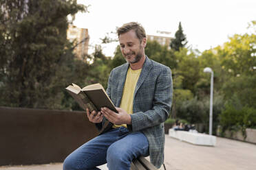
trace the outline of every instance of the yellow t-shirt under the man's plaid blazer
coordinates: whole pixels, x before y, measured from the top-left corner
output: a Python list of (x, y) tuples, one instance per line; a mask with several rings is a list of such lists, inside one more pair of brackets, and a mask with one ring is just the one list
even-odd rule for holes
[[(122, 100), (121, 100), (120, 108), (125, 110), (128, 114), (133, 113), (134, 90), (136, 88), (138, 78), (140, 77), (140, 72), (141, 72), (141, 69), (132, 70), (131, 67), (129, 67), (127, 71), (125, 86), (122, 92)], [(114, 128), (120, 127), (120, 126), (127, 127), (126, 124), (113, 125)]]

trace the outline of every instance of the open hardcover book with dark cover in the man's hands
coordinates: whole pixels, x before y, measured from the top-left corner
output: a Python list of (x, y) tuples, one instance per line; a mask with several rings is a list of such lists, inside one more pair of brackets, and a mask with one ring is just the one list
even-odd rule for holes
[[(113, 102), (111, 101), (101, 84), (92, 84), (83, 88), (76, 84), (72, 84), (70, 86), (67, 86), (66, 90), (68, 93), (70, 93), (70, 95), (72, 95), (72, 97), (79, 104), (79, 106), (85, 111), (88, 108), (90, 112), (92, 112), (93, 110), (98, 112), (100, 111), (100, 108), (107, 107), (110, 110), (118, 113)], [(107, 132), (107, 130), (109, 130), (112, 125), (113, 123), (110, 123), (106, 119), (99, 134)]]

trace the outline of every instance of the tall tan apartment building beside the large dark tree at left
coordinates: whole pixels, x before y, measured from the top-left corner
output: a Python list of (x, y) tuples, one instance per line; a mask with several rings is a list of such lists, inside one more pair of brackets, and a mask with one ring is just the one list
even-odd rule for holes
[(83, 59), (83, 56), (88, 54), (89, 47), (89, 34), (88, 29), (78, 28), (75, 25), (70, 24), (67, 29), (67, 39), (70, 42), (74, 42), (74, 45), (78, 45), (74, 49), (74, 53), (78, 58)]

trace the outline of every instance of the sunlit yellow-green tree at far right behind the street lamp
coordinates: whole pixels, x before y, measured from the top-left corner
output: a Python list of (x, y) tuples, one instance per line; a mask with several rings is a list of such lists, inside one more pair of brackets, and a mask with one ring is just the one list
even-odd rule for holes
[[(240, 109), (242, 106), (255, 108), (255, 65), (256, 36), (244, 34), (229, 38), (222, 47), (204, 51), (199, 57), (202, 69), (210, 66), (214, 71), (215, 90), (222, 93), (226, 102)], [(202, 74), (202, 71), (200, 71)], [(209, 77), (209, 76), (208, 76)], [(207, 82), (207, 83), (206, 83)], [(200, 79), (200, 89), (208, 86), (206, 75)]]

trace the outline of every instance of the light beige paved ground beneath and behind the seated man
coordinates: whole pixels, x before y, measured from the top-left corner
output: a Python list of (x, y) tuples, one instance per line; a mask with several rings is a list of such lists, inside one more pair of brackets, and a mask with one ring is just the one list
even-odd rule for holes
[[(0, 170), (62, 170), (62, 165), (58, 162), (47, 165), (4, 166)], [(217, 137), (216, 146), (209, 147), (166, 136), (164, 165), (167, 170), (255, 170), (256, 145)], [(99, 168), (107, 170), (106, 165)]]

